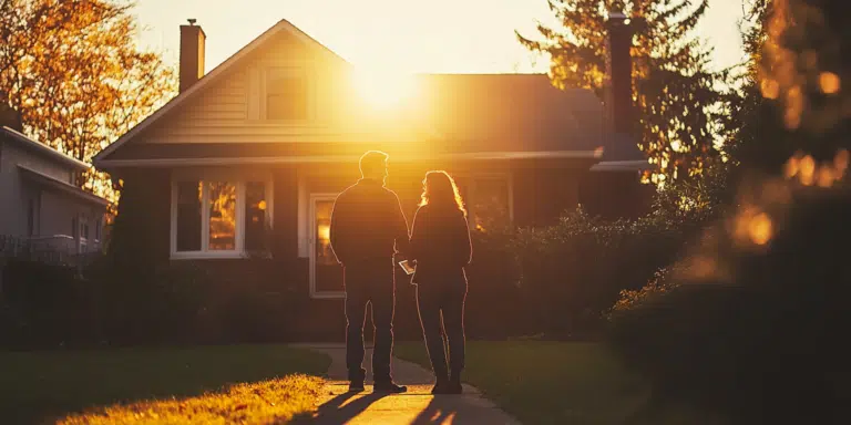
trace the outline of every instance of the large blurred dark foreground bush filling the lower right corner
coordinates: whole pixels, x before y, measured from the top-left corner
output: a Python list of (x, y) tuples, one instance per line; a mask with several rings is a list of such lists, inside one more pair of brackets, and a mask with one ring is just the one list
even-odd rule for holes
[(851, 401), (851, 193), (757, 187), (686, 261), (625, 293), (611, 342), (659, 397), (737, 423), (839, 422)]

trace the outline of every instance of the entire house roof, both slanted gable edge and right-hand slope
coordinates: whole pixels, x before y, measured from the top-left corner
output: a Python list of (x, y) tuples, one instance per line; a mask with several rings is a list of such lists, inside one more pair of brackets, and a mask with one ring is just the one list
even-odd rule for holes
[[(181, 104), (227, 75), (230, 68), (281, 31), (318, 45), (345, 65), (350, 65), (281, 20), (103, 149), (95, 156), (95, 165), (117, 166), (119, 160), (113, 160), (117, 158), (105, 160), (107, 156), (173, 110), (180, 111)], [(604, 144), (604, 111), (599, 99), (589, 90), (558, 90), (546, 74), (420, 74), (417, 80), (418, 94), (397, 111), (386, 113), (377, 123), (396, 122), (397, 127), (403, 123), (401, 127), (427, 129), (427, 138), (429, 144), (434, 144), (434, 151), (450, 155), (571, 152), (593, 153), (593, 157), (599, 157)], [(127, 156), (132, 155), (119, 156), (123, 157), (122, 165), (127, 165)], [(156, 158), (146, 158), (151, 159)]]

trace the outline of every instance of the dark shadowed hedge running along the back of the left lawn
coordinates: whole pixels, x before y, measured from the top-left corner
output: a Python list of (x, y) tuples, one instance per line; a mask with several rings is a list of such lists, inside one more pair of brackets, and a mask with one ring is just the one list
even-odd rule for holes
[(3, 269), (0, 345), (150, 345), (277, 342), (296, 322), (290, 293), (277, 297), (194, 262), (127, 271), (105, 257), (80, 276), (34, 261)]

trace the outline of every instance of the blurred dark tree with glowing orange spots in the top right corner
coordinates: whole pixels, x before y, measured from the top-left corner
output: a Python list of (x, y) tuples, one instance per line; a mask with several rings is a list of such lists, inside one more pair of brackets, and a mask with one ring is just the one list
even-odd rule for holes
[(749, 66), (726, 123), (735, 142), (732, 157), (745, 169), (772, 175), (804, 154), (813, 163), (841, 162), (837, 152), (851, 142), (851, 96), (842, 91), (842, 83), (851, 81), (848, 6), (829, 0), (744, 1), (751, 14), (742, 29)]

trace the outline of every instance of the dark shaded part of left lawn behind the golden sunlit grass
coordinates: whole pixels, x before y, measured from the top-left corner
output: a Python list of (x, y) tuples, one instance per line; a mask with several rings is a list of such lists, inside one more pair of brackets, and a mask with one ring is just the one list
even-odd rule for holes
[(96, 406), (198, 397), (235, 383), (321, 375), (330, 359), (286, 345), (0, 352), (0, 423)]

